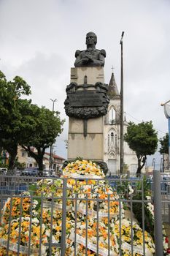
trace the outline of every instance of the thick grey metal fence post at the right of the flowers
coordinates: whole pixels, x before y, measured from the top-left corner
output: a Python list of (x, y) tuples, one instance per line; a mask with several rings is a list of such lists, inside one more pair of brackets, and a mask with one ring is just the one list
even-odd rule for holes
[(155, 255), (163, 256), (161, 173), (153, 170), (153, 203), (155, 219)]

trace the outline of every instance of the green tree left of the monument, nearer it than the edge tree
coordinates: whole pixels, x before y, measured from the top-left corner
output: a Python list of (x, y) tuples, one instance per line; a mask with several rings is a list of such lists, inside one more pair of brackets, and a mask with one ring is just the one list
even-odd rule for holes
[[(36, 124), (28, 127), (27, 135), (21, 145), (31, 157), (36, 159), (39, 170), (43, 170), (45, 149), (53, 145), (55, 138), (61, 134), (64, 120), (61, 120), (57, 111), (50, 111), (45, 107), (38, 108), (36, 105), (31, 105), (31, 108), (35, 113)], [(36, 148), (37, 152), (32, 151), (32, 147)]]

